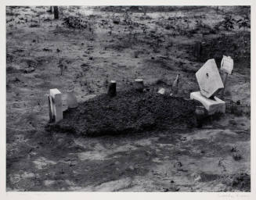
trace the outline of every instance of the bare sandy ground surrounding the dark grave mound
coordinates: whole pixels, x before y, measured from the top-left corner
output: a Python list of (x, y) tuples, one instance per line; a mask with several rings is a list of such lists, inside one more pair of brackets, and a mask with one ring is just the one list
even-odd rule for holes
[[(7, 191), (251, 190), (250, 29), (242, 31), (236, 23), (233, 30), (215, 29), (225, 15), (243, 19), (249, 7), (219, 6), (217, 11), (205, 6), (160, 6), (146, 15), (133, 7), (127, 16), (123, 8), (112, 13), (69, 6), (59, 8), (59, 20), (53, 20), (47, 9), (6, 8)], [(67, 27), (63, 24), (67, 16), (90, 25)], [(194, 52), (197, 41), (202, 45), (200, 56)], [(225, 90), (228, 109), (200, 129), (169, 124), (164, 130), (99, 137), (45, 130), (46, 95), (51, 88), (63, 93), (66, 110), (66, 91), (73, 87), (80, 106), (93, 105), (97, 101), (88, 99), (105, 93), (110, 80), (117, 80), (117, 94), (142, 78), (152, 92), (164, 87), (169, 95), (180, 73), (177, 96), (189, 98), (189, 92), (199, 90), (197, 70), (211, 58), (219, 66), (222, 53), (235, 61)], [(161, 102), (165, 97), (153, 98)], [(112, 106), (112, 101), (109, 109), (99, 108), (114, 112), (110, 108), (117, 105)], [(171, 109), (167, 107), (166, 112)], [(81, 110), (90, 108), (96, 109)], [(157, 122), (155, 116), (143, 116), (143, 123), (146, 117)]]

